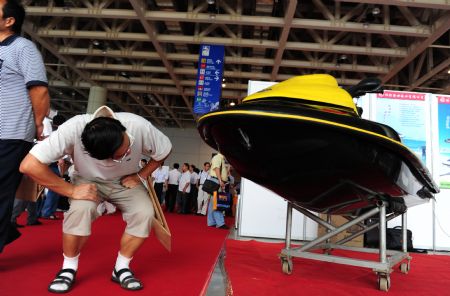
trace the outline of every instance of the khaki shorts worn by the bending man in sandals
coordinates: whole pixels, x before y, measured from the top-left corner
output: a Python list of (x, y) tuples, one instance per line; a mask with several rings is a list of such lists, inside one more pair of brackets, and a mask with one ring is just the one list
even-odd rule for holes
[[(142, 184), (130, 189), (123, 187), (119, 181), (86, 180), (80, 176), (74, 176), (72, 182), (74, 185), (95, 184), (99, 199), (112, 203), (122, 211), (123, 220), (127, 223), (125, 232), (137, 237), (148, 237), (155, 212)], [(64, 214), (63, 232), (90, 235), (92, 222), (100, 216), (98, 204), (90, 200), (70, 199), (70, 208)]]

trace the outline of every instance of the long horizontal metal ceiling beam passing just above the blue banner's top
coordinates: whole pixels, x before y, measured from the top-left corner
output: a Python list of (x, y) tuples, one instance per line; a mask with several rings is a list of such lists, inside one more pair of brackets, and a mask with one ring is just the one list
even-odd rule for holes
[[(80, 39), (99, 39), (99, 40), (131, 40), (148, 42), (149, 36), (146, 33), (124, 33), (124, 32), (104, 32), (104, 31), (71, 31), (71, 30), (38, 30), (40, 37), (48, 38), (80, 38)], [(202, 37), (182, 36), (182, 35), (165, 35), (155, 36), (158, 42), (175, 43), (175, 44), (220, 44), (225, 46), (236, 47), (254, 47), (254, 48), (278, 48), (277, 41), (270, 40), (254, 40), (242, 38), (226, 38), (226, 37)], [(153, 39), (155, 39), (153, 38)], [(405, 48), (382, 48), (382, 47), (366, 47), (353, 45), (329, 45), (317, 44), (311, 42), (286, 42), (287, 50), (296, 51), (317, 51), (317, 52), (335, 52), (346, 54), (390, 56), (390, 57), (406, 57)]]

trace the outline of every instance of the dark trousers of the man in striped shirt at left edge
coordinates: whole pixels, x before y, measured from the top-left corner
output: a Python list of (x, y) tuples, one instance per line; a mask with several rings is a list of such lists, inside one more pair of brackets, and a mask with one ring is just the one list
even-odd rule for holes
[(6, 244), (20, 236), (20, 232), (11, 225), (11, 216), (22, 177), (19, 165), (30, 149), (30, 142), (0, 140), (0, 253)]

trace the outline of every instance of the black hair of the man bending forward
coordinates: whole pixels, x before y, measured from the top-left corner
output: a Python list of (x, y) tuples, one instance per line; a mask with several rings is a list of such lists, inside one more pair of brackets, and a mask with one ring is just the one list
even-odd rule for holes
[(110, 117), (97, 117), (84, 127), (81, 142), (93, 158), (112, 158), (123, 142), (126, 128), (120, 121)]

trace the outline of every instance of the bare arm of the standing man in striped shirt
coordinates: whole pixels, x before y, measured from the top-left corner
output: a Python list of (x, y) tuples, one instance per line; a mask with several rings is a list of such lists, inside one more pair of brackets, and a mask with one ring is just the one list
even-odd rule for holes
[(50, 112), (50, 96), (48, 88), (42, 85), (31, 86), (28, 90), (31, 106), (34, 113), (34, 124), (36, 125), (36, 138), (41, 140), (44, 130), (44, 118)]

